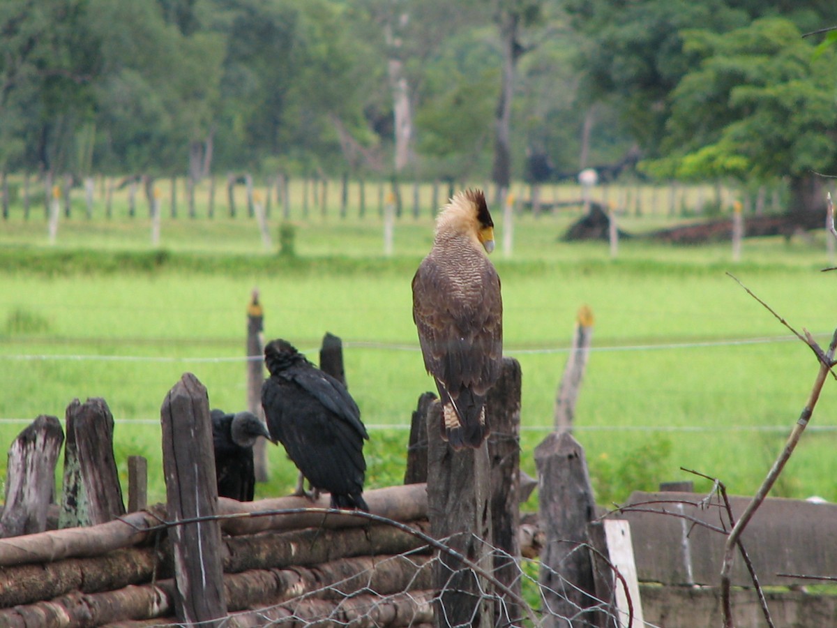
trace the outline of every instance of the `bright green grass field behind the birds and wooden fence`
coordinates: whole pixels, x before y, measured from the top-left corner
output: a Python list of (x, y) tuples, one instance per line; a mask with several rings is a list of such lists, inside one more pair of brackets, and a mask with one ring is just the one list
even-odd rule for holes
[[(829, 265), (824, 236), (746, 240), (737, 263), (728, 244), (642, 240), (620, 243), (611, 259), (606, 243), (558, 241), (578, 211), (516, 219), (510, 255), (495, 212), (506, 354), (523, 372), (522, 465), (534, 475), (532, 450), (551, 428), (575, 315), (588, 305), (593, 353), (576, 435), (598, 501), (694, 479), (681, 466), (752, 493), (818, 367), (727, 272), (827, 344), (837, 276), (820, 272)], [(620, 226), (639, 233), (668, 220), (624, 216)], [(117, 460), (148, 457), (151, 499), (162, 500), (162, 399), (191, 371), (213, 407), (244, 407), (245, 310), (258, 286), (267, 339), (285, 337), (316, 362), (326, 331), (342, 337), (349, 388), (372, 434), (368, 485), (400, 481), (410, 414), (433, 389), (410, 315), (410, 280), (432, 219), (398, 219), (392, 257), (383, 255), (377, 211), (365, 219), (297, 213), (292, 223), (297, 256), (289, 260), (265, 251), (244, 216), (165, 218), (162, 248), (151, 250), (147, 219), (74, 216), (49, 245), (43, 212), (26, 220), (18, 208), (0, 225), (0, 441), (38, 414), (62, 418), (76, 397), (104, 397)], [(274, 236), (278, 224), (270, 219)], [(833, 385), (773, 494), (837, 499)], [(258, 487), (260, 497), (288, 492), (295, 480), (283, 451), (272, 449), (270, 460), (274, 479)]]

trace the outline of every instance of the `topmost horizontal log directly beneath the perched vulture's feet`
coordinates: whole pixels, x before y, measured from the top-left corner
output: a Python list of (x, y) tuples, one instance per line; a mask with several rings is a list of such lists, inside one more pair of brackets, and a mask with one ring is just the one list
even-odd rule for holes
[[(438, 430), (437, 430), (438, 431)], [(393, 521), (408, 522), (428, 516), (428, 496), (425, 484), (387, 486), (363, 492), (369, 512)], [(316, 501), (307, 497), (275, 497), (259, 502), (237, 502), (218, 498), (218, 512), (224, 515), (253, 513), (253, 517), (234, 517), (223, 522), (223, 531), (232, 535), (255, 534), (264, 530), (298, 530), (300, 528), (356, 528), (369, 524), (362, 513), (343, 511), (324, 515), (322, 512), (275, 511), (300, 508), (328, 508), (331, 496), (324, 493)], [(2, 555), (2, 554), (0, 554)]]

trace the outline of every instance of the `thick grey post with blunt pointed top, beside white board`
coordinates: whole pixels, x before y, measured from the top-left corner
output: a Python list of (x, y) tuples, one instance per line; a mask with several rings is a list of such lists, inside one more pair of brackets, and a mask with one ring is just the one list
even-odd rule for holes
[[(552, 432), (535, 448), (540, 520), (541, 590), (546, 628), (598, 625), (588, 523), (595, 517), (584, 449), (567, 432)], [(585, 609), (591, 609), (585, 612)]]

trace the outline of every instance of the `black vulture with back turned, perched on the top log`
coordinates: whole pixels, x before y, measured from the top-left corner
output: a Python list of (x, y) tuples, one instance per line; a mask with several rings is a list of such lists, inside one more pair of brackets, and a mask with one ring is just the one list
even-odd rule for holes
[(262, 385), (262, 405), (270, 435), (285, 445), (315, 491), (331, 493), (331, 507), (368, 511), (361, 493), (369, 435), (346, 387), (285, 340), (264, 347), (264, 363), (270, 378)]

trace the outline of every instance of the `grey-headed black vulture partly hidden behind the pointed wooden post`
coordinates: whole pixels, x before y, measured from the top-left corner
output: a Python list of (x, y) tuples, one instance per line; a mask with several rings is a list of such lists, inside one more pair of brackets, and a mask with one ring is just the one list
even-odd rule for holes
[(253, 445), (259, 436), (273, 440), (270, 431), (252, 412), (227, 414), (214, 409), (210, 416), (218, 497), (252, 502), (255, 486)]

